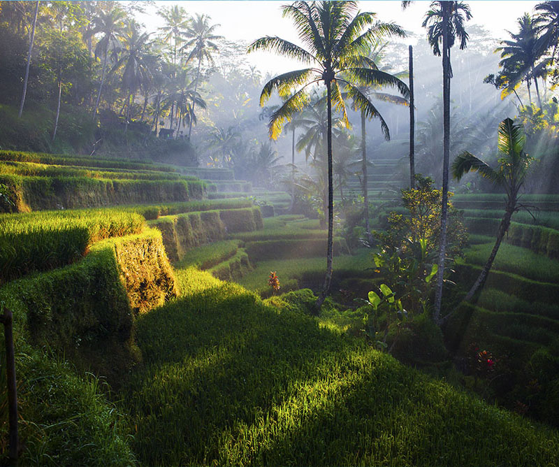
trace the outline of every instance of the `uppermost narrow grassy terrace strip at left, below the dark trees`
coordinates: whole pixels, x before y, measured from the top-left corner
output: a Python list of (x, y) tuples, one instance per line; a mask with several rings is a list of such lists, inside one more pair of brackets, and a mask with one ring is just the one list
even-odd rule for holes
[(41, 152), (21, 152), (0, 150), (0, 161), (34, 162), (60, 166), (104, 167), (113, 169), (149, 170), (176, 172), (177, 168), (151, 161), (134, 161), (129, 159), (98, 159), (97, 157), (53, 155)]

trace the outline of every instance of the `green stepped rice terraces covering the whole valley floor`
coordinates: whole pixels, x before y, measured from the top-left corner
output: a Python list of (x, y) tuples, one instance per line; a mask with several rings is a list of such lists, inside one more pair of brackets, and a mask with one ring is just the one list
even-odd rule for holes
[[(352, 299), (375, 282), (370, 249), (349, 254), (335, 238), (333, 295), (349, 309), (328, 302), (311, 317), (314, 297), (298, 289), (323, 280), (326, 231), (300, 215), (263, 219), (240, 191), (208, 199), (210, 183), (243, 189), (230, 171), (17, 152), (0, 160), (10, 209), (31, 211), (0, 215), (22, 465), (559, 464), (556, 429), (472, 396), (481, 383), (468, 375), (449, 373), (449, 385), (348, 331), (363, 319)], [(289, 206), (288, 194), (259, 196), (280, 212)], [(40, 210), (61, 201), (76, 208)], [(484, 396), (553, 425), (557, 200), (530, 201), (546, 207), (539, 224), (514, 219), (484, 293), (444, 331), (456, 359), (472, 343), (495, 355), (500, 373)], [(460, 284), (488, 254), (495, 209), (465, 212), (480, 228), (458, 265)]]

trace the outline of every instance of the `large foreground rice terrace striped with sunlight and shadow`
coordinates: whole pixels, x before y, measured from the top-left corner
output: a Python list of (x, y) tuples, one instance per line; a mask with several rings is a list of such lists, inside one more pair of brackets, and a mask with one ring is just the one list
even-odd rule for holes
[(242, 287), (177, 276), (182, 299), (138, 319), (143, 365), (118, 396), (145, 465), (559, 462), (556, 431)]

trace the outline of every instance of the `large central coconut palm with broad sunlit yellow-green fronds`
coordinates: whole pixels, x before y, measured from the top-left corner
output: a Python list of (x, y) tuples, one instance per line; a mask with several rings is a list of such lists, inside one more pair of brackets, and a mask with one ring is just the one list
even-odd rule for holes
[[(274, 91), (288, 99), (270, 117), (270, 138), (277, 138), (284, 123), (291, 120), (309, 102), (306, 88), (324, 82), (326, 85), (326, 105), (328, 131), (326, 148), (328, 157), (328, 250), (326, 253), (326, 275), (324, 287), (317, 300), (317, 311), (326, 299), (332, 278), (333, 263), (333, 175), (332, 175), (332, 107), (342, 114), (342, 120), (349, 125), (346, 107), (340, 85), (347, 88), (347, 95), (354, 99), (356, 106), (368, 117), (375, 115), (375, 108), (356, 86), (342, 77), (351, 76), (363, 84), (392, 85), (398, 87), (406, 97), (407, 85), (388, 73), (382, 73), (366, 66), (367, 59), (361, 54), (363, 47), (381, 36), (404, 32), (393, 23), (375, 21), (374, 13), (357, 11), (355, 1), (295, 1), (283, 8), (284, 16), (291, 17), (301, 41), (307, 50), (277, 36), (259, 38), (249, 46), (249, 52), (270, 50), (286, 57), (298, 59), (307, 68), (276, 76), (264, 85), (260, 101), (266, 103)], [(363, 30), (365, 30), (363, 32)]]

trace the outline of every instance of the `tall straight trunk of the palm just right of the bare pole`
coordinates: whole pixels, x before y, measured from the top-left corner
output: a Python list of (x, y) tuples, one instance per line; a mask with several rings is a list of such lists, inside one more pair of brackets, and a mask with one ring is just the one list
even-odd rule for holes
[(443, 144), (442, 144), (442, 206), (439, 250), (439, 270), (435, 290), (435, 323), (440, 322), (442, 286), (444, 278), (444, 259), (447, 254), (447, 219), (449, 213), (449, 158), (450, 158), (450, 48), (449, 21), (451, 2), (441, 2), (442, 24), (442, 101), (443, 101)]

